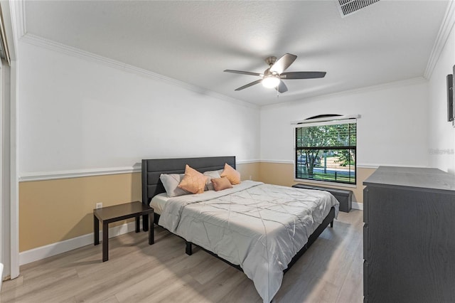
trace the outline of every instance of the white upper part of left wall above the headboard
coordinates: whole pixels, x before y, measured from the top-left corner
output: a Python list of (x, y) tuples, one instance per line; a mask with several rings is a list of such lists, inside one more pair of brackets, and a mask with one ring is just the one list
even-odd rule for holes
[(259, 159), (259, 109), (19, 44), (19, 176), (145, 158)]

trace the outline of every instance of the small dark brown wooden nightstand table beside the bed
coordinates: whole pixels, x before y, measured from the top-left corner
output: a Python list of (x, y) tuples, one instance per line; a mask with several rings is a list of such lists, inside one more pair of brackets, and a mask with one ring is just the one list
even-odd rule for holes
[(100, 244), (100, 221), (102, 222), (102, 262), (109, 259), (109, 223), (136, 218), (136, 233), (141, 230), (140, 216), (149, 216), (149, 244), (154, 244), (154, 209), (139, 201), (107, 206), (93, 210), (94, 245)]

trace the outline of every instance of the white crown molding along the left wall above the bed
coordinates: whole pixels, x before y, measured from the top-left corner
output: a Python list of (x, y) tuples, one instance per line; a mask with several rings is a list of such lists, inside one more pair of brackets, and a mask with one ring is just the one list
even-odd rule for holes
[(90, 53), (85, 50), (81, 50), (79, 48), (74, 48), (73, 46), (67, 46), (63, 43), (58, 43), (58, 42), (43, 38), (41, 36), (33, 35), (32, 33), (26, 33), (21, 38), (21, 42), (28, 43), (33, 46), (39, 46), (41, 48), (47, 48), (48, 50), (57, 51), (59, 53), (64, 53), (65, 55), (70, 55), (70, 56), (73, 56), (76, 58), (81, 58), (83, 60), (100, 63), (102, 65), (109, 66), (110, 68), (116, 68), (118, 70), (122, 70), (124, 72), (132, 73), (135, 75), (139, 75), (139, 76), (142, 76), (145, 78), (150, 78), (153, 80), (159, 80), (159, 81), (163, 81), (166, 83), (170, 83), (171, 85), (176, 85), (176, 86), (182, 87), (186, 90), (191, 90), (193, 92), (197, 92), (200, 95), (214, 97), (219, 100), (234, 103), (236, 105), (259, 109), (259, 105), (255, 105), (250, 102), (245, 102), (242, 100), (237, 100), (235, 98), (228, 97), (223, 94), (219, 94), (218, 92), (206, 90), (203, 87), (198, 87), (196, 85), (191, 85), (191, 84), (185, 83), (183, 81), (179, 81), (179, 80), (176, 80), (173, 78), (168, 78), (164, 75), (159, 75), (157, 73), (151, 72), (150, 70), (145, 70), (143, 68), (138, 68), (137, 66), (134, 66), (134, 65), (129, 65), (127, 63), (109, 59), (109, 58), (103, 57), (102, 55), (96, 55), (95, 53)]

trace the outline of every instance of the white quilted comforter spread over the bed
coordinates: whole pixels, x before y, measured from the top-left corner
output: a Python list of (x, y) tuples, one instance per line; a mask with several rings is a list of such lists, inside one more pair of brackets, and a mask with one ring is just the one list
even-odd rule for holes
[(338, 201), (326, 191), (242, 181), (234, 188), (170, 198), (159, 224), (240, 265), (264, 302), (283, 270)]

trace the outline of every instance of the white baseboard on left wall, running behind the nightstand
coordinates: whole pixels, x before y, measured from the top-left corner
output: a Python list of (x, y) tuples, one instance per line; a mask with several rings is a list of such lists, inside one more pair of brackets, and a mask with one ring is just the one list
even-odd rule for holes
[[(124, 223), (123, 225), (114, 226), (112, 228), (109, 228), (109, 238), (117, 237), (117, 235), (123, 235), (124, 233), (129, 233), (134, 230), (136, 230), (135, 221)], [(102, 230), (100, 230), (100, 240), (102, 240)], [(82, 246), (90, 244), (93, 245), (93, 233), (81, 235), (79, 237), (64, 240), (58, 243), (41, 246), (41, 248), (33, 248), (32, 250), (19, 252), (19, 265), (42, 260), (46, 257), (52, 257), (53, 255), (68, 252), (69, 250), (74, 250), (76, 248), (82, 248)]]

